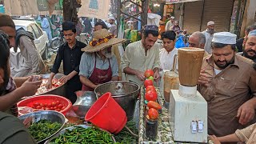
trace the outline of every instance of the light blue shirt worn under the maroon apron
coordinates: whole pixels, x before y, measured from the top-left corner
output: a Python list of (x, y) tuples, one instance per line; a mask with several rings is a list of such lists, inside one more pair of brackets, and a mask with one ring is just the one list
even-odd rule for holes
[[(94, 65), (95, 65), (95, 54), (96, 53), (86, 53), (84, 52), (82, 54), (80, 66), (79, 66), (79, 75), (82, 75), (86, 78), (90, 78), (90, 75), (94, 71)], [(109, 66), (111, 66), (112, 70), (112, 77), (118, 76), (118, 60), (113, 54), (113, 56), (110, 58), (110, 65), (109, 61), (106, 58), (105, 60), (102, 60), (98, 54), (96, 54), (96, 68), (101, 70), (107, 70)]]

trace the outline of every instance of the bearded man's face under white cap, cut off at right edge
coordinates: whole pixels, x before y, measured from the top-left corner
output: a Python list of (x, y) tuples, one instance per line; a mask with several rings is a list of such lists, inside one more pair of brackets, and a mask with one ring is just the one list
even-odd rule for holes
[(244, 46), (244, 50), (240, 54), (256, 62), (256, 30), (250, 31), (245, 40)]

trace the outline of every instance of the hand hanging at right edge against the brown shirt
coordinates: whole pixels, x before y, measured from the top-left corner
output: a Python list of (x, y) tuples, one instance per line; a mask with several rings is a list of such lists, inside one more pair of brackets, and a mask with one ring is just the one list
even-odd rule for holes
[(255, 116), (254, 103), (250, 100), (243, 103), (238, 109), (239, 123), (245, 125), (250, 122)]

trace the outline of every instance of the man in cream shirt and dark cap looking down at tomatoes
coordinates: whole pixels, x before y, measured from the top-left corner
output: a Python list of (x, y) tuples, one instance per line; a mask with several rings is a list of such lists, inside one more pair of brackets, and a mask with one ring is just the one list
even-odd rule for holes
[(145, 80), (144, 71), (154, 71), (154, 81), (160, 79), (159, 50), (162, 46), (156, 43), (158, 40), (158, 26), (146, 25), (143, 30), (142, 40), (130, 43), (126, 46), (122, 56), (121, 67), (126, 74), (126, 81), (132, 81), (142, 85)]

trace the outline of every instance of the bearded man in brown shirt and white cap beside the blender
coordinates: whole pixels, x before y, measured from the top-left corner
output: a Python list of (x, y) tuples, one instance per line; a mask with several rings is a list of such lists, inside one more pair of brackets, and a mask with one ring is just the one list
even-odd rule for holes
[(224, 136), (256, 122), (254, 62), (235, 54), (236, 35), (215, 33), (205, 57), (198, 90), (208, 103), (208, 134)]

